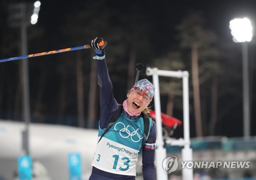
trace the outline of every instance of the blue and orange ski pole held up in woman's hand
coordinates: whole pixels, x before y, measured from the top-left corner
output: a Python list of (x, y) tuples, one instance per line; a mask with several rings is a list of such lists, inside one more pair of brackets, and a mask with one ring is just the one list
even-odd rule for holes
[[(99, 42), (99, 46), (103, 46), (104, 41)], [(42, 53), (36, 53), (36, 54), (29, 54), (25, 56), (17, 56), (17, 57), (11, 57), (11, 58), (6, 58), (6, 59), (0, 59), (0, 62), (5, 62), (5, 61), (13, 61), (17, 59), (26, 59), (30, 57), (37, 57), (37, 56), (44, 56), (44, 55), (49, 55), (49, 54), (56, 54), (56, 53), (63, 53), (63, 52), (68, 52), (68, 51), (76, 51), (76, 50), (81, 50), (81, 49), (89, 49), (91, 48), (89, 44), (84, 45), (84, 46), (79, 46), (79, 47), (74, 47), (74, 48), (66, 48), (66, 49), (61, 49), (61, 50), (53, 50), (53, 51), (48, 51), (48, 52), (42, 52)]]

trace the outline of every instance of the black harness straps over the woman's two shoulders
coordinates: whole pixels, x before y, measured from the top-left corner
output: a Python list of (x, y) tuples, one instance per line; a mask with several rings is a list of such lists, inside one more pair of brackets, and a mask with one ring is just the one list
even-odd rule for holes
[[(116, 110), (115, 115), (113, 116), (113, 118), (110, 121), (109, 125), (105, 128), (105, 130), (104, 130), (103, 134), (101, 135), (98, 143), (100, 142), (102, 137), (105, 135), (105, 133), (108, 132), (109, 129), (113, 126), (113, 124), (115, 124), (116, 120), (119, 118), (119, 116), (121, 115), (122, 111), (123, 111), (123, 106), (119, 105), (118, 109)], [(145, 113), (142, 113), (142, 116), (143, 116), (143, 123), (144, 123), (144, 133), (143, 133), (143, 144), (144, 144), (146, 142), (148, 133), (150, 132), (150, 118)]]

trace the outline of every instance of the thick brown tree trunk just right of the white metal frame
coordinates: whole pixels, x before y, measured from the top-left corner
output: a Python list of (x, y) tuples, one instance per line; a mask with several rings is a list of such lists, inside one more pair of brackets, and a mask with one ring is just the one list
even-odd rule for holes
[(199, 73), (198, 73), (198, 47), (193, 44), (191, 47), (191, 60), (192, 60), (192, 83), (194, 95), (194, 108), (195, 108), (195, 121), (196, 121), (196, 134), (197, 137), (202, 137), (202, 118), (201, 118), (201, 105), (200, 105), (200, 89), (199, 89)]

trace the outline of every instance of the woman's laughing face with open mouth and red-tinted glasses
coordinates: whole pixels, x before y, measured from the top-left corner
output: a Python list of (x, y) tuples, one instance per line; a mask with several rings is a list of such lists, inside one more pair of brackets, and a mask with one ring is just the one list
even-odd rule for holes
[(150, 96), (145, 92), (134, 90), (127, 94), (127, 108), (131, 114), (139, 114), (147, 107), (150, 100)]

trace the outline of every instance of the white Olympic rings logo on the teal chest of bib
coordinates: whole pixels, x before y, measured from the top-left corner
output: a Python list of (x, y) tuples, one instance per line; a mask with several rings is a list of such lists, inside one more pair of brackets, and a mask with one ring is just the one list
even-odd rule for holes
[[(117, 128), (117, 125), (118, 124), (121, 124), (121, 126), (123, 127), (123, 128)], [(129, 128), (130, 127), (130, 128)], [(130, 130), (129, 130), (129, 129)], [(127, 127), (125, 127), (125, 125), (123, 124), (123, 123), (121, 123), (121, 122), (118, 122), (118, 123), (116, 123), (116, 125), (115, 125), (115, 130), (118, 130), (118, 129), (120, 129), (119, 130), (119, 134), (120, 134), (120, 136), (122, 137), (122, 138), (129, 138), (129, 137), (131, 137), (131, 140), (133, 141), (133, 142), (135, 142), (135, 143), (137, 143), (137, 142), (139, 142), (141, 139), (143, 139), (143, 136), (141, 137), (141, 135), (138, 133), (138, 130), (139, 130), (139, 128), (138, 129), (134, 129), (133, 128), (133, 126), (131, 126), (131, 125), (128, 125)], [(131, 131), (133, 131), (132, 133), (131, 133)], [(124, 132), (124, 133), (122, 133), (122, 132)], [(125, 135), (125, 132), (127, 133), (127, 136), (124, 136)], [(134, 138), (135, 137), (135, 138)], [(137, 138), (136, 138), (137, 137)], [(137, 140), (138, 139), (138, 140)]]

